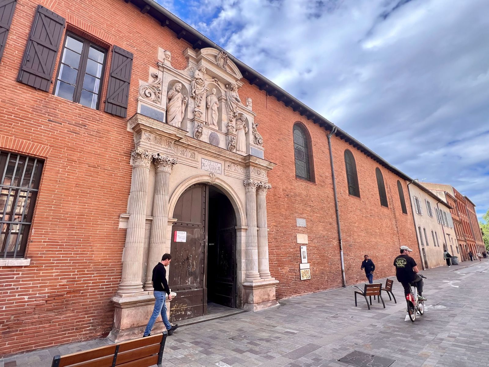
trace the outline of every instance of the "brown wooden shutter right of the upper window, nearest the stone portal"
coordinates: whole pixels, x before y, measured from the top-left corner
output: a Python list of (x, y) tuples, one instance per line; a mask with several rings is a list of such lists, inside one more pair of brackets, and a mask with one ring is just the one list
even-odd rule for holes
[(107, 86), (105, 112), (126, 117), (129, 101), (129, 85), (133, 69), (133, 54), (119, 46), (112, 49), (111, 74)]

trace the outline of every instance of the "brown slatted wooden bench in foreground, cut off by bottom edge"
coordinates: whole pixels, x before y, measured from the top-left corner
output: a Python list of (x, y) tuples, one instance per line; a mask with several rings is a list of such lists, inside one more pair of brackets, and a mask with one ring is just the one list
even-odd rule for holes
[(55, 356), (51, 367), (161, 367), (168, 332), (129, 342)]

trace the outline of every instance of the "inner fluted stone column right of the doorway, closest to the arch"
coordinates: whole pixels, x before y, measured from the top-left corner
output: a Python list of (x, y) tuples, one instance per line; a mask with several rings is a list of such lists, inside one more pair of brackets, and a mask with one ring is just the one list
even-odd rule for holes
[(246, 191), (246, 275), (245, 281), (260, 280), (258, 273), (258, 239), (256, 227), (256, 187), (259, 182), (245, 180), (243, 182)]

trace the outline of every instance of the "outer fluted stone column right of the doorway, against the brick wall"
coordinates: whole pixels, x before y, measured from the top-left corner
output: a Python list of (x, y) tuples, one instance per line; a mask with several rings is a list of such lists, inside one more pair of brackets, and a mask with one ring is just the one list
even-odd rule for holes
[(267, 190), (270, 184), (261, 182), (256, 189), (258, 224), (258, 272), (260, 278), (271, 279), (268, 266)]

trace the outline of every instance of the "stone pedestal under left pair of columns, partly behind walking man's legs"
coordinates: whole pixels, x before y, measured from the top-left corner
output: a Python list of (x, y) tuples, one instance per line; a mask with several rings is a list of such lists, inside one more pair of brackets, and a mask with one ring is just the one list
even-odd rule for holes
[[(113, 297), (115, 306), (114, 324), (108, 336), (112, 342), (122, 342), (143, 336), (144, 329), (150, 320), (155, 308), (153, 294), (145, 294), (134, 297)], [(166, 301), (167, 316), (169, 316), (170, 301)], [(161, 316), (156, 319), (151, 334), (162, 332), (165, 329)]]

